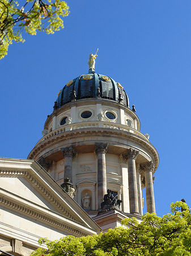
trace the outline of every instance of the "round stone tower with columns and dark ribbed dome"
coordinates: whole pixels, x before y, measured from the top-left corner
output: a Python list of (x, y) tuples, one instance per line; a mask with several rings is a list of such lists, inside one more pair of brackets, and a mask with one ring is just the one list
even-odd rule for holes
[(139, 216), (146, 187), (147, 212), (155, 212), (159, 156), (140, 127), (121, 84), (90, 67), (60, 90), (28, 159), (37, 160), (60, 185), (69, 178), (74, 200), (90, 216), (99, 212), (107, 189), (122, 201), (121, 213)]

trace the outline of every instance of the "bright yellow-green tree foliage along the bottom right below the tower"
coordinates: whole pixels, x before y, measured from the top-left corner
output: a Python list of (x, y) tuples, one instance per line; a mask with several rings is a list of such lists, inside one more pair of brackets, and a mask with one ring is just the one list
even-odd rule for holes
[(122, 221), (125, 226), (95, 236), (67, 236), (53, 242), (41, 238), (40, 245), (45, 243), (48, 250), (39, 248), (31, 256), (190, 256), (190, 209), (181, 201), (172, 203), (171, 209), (172, 214), (162, 218), (154, 213), (143, 215), (142, 222), (126, 218)]

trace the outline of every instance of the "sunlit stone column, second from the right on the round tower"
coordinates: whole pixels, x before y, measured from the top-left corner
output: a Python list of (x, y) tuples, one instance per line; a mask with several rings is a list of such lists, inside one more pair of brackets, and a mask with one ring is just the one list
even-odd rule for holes
[(122, 156), (128, 159), (128, 182), (129, 182), (129, 207), (130, 213), (139, 213), (138, 191), (137, 191), (137, 173), (135, 160), (139, 151), (129, 148)]

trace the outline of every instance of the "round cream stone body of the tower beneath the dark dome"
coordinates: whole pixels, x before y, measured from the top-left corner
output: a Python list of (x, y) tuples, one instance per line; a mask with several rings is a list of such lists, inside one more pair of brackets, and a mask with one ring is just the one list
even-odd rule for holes
[[(91, 117), (82, 118), (83, 112), (90, 112)], [(109, 119), (107, 112), (115, 118)], [(61, 125), (66, 116), (71, 117), (71, 123)], [(148, 137), (140, 132), (140, 126), (138, 116), (120, 102), (104, 98), (69, 102), (48, 117), (44, 130), (49, 133), (37, 142), (28, 159), (43, 157), (56, 162), (56, 167), (48, 169), (49, 174), (58, 184), (62, 184), (66, 176), (70, 177), (77, 189), (74, 200), (81, 207), (82, 199), (88, 193), (90, 216), (96, 216), (107, 189), (123, 201), (122, 212), (142, 214), (145, 185), (141, 180), (147, 179), (147, 174), (140, 166), (152, 162), (152, 176), (158, 167), (159, 156)], [(67, 148), (75, 153), (65, 154), (63, 151)], [(148, 183), (145, 184), (147, 187)], [(154, 200), (151, 189), (146, 188), (146, 191), (147, 194), (151, 192), (150, 197)], [(147, 208), (149, 212), (155, 212), (153, 204), (151, 208), (147, 204)]]

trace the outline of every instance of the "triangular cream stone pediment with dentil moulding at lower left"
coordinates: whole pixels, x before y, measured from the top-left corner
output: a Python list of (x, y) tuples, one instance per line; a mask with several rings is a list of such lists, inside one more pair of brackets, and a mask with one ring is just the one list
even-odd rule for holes
[(74, 230), (73, 233), (82, 230), (81, 225), (88, 232), (90, 229), (100, 231), (91, 217), (35, 160), (0, 158), (0, 181), (1, 208)]

